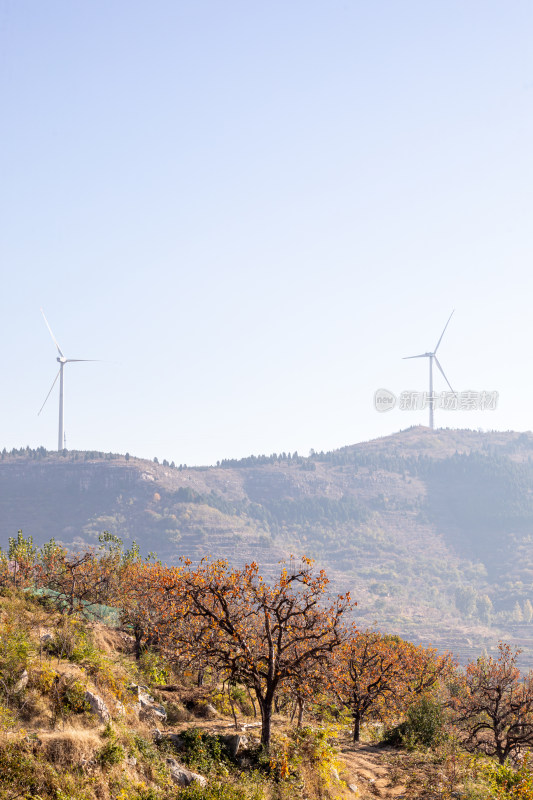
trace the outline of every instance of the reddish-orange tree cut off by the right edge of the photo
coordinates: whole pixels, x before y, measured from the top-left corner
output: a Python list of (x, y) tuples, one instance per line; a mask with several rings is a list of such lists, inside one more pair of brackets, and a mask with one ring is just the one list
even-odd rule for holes
[(461, 690), (452, 698), (464, 746), (496, 756), (500, 764), (533, 746), (533, 672), (516, 666), (520, 650), (500, 642), (496, 660), (483, 656), (466, 668)]

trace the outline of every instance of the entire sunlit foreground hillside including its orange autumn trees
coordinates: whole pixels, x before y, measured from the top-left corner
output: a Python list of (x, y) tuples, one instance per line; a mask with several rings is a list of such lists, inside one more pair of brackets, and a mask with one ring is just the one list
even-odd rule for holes
[(457, 670), (354, 627), (352, 603), (306, 558), (267, 582), (109, 534), (75, 554), (17, 536), (0, 553), (1, 800), (532, 800), (517, 653)]

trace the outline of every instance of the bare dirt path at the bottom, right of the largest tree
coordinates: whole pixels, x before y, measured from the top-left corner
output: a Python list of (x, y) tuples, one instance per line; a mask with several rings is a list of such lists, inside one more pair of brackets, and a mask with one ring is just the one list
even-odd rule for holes
[(348, 739), (339, 739), (337, 746), (345, 765), (341, 777), (357, 787), (359, 797), (382, 797), (386, 800), (407, 797), (401, 778), (387, 763), (386, 750), (369, 744), (353, 744)]

